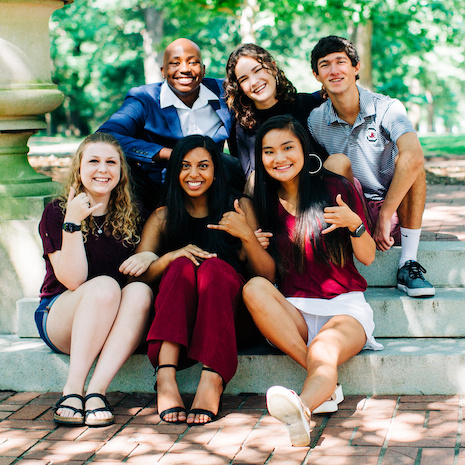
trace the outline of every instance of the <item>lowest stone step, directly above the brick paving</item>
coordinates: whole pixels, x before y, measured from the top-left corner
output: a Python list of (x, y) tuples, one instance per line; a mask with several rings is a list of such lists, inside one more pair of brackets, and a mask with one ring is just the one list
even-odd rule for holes
[[(461, 338), (379, 338), (385, 349), (362, 351), (339, 367), (347, 395), (463, 395), (465, 340)], [(0, 336), (0, 389), (61, 391), (69, 357), (53, 353), (39, 339)], [(153, 368), (145, 355), (133, 355), (110, 385), (110, 391), (151, 392)], [(182, 392), (193, 393), (200, 366), (178, 373)], [(288, 356), (258, 347), (239, 355), (236, 376), (227, 392), (263, 394), (281, 384), (300, 390), (305, 371)]]

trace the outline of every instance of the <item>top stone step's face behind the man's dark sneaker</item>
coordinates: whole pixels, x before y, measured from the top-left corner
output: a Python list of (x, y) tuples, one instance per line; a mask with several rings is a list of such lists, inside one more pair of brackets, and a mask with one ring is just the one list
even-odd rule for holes
[[(370, 266), (357, 262), (368, 286), (395, 287), (400, 247), (376, 252)], [(426, 279), (435, 287), (465, 287), (465, 242), (421, 241), (418, 262), (427, 270)]]

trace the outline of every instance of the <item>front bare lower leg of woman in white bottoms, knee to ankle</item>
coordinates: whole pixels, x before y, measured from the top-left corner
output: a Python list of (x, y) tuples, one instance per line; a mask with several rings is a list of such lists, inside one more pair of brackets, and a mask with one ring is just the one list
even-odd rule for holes
[(358, 354), (365, 342), (362, 325), (351, 316), (334, 316), (321, 328), (308, 348), (307, 377), (300, 395), (310, 411), (331, 396), (337, 367)]

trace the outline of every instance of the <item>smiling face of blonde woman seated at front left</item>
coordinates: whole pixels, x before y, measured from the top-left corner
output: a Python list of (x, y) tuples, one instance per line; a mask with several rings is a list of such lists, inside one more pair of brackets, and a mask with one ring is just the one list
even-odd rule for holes
[(121, 159), (110, 144), (88, 144), (81, 158), (81, 182), (88, 195), (94, 199), (110, 197), (121, 177)]

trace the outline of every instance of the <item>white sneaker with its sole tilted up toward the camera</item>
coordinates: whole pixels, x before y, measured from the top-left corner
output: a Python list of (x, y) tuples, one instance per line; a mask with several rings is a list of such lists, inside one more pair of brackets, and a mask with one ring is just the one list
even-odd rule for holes
[(266, 406), (271, 416), (284, 423), (293, 446), (310, 445), (310, 410), (294, 391), (283, 386), (270, 387)]

